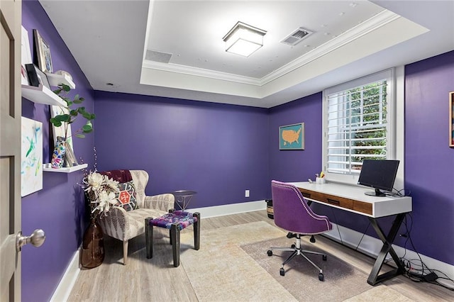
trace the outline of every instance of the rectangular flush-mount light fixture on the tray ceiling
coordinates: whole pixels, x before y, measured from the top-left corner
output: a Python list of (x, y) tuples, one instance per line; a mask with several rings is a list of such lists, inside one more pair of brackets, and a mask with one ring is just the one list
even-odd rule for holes
[(266, 33), (265, 30), (238, 21), (222, 40), (226, 42), (226, 52), (249, 57), (263, 46), (263, 36)]

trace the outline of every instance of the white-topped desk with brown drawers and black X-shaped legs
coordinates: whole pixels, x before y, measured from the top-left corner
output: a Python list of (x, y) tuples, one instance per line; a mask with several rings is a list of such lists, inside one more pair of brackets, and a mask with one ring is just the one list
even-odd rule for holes
[[(406, 213), (411, 212), (411, 197), (368, 196), (364, 192), (371, 189), (346, 184), (311, 184), (309, 181), (292, 182), (290, 184), (297, 186), (309, 202), (321, 203), (369, 218), (372, 227), (382, 240), (383, 246), (367, 278), (368, 284), (375, 285), (405, 272), (404, 264), (392, 248), (392, 242), (399, 232)], [(384, 234), (376, 219), (385, 216), (396, 216), (387, 235)], [(397, 269), (379, 275), (388, 253), (397, 264)]]

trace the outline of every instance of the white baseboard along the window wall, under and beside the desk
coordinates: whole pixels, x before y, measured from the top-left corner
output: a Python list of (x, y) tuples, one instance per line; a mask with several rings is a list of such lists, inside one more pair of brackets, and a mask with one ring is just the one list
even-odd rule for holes
[[(349, 228), (345, 228), (342, 225), (336, 225), (335, 223), (333, 223), (333, 230), (323, 235), (337, 242), (341, 242), (341, 237), (339, 237), (339, 233), (341, 233), (343, 245), (346, 245), (353, 249), (356, 249), (358, 247), (358, 251), (370, 257), (376, 258), (380, 250), (382, 249), (383, 243), (380, 239), (377, 239), (369, 235), (364, 235), (363, 237), (362, 233), (357, 232), (355, 230), (351, 230)], [(437, 269), (445, 273), (450, 279), (454, 279), (453, 265), (441, 262), (437, 259), (433, 259), (431, 257), (427, 257), (421, 254), (418, 255), (416, 254), (416, 252), (412, 250), (405, 250), (403, 247), (399, 247), (398, 245), (392, 245), (392, 247), (394, 248), (394, 251), (396, 252), (397, 256), (403, 257), (405, 255), (406, 259), (419, 259), (419, 256), (421, 256), (421, 260), (423, 261), (424, 264), (426, 264), (426, 266), (429, 269)], [(389, 259), (391, 258), (391, 256), (387, 255), (387, 258)], [(414, 263), (418, 264), (419, 261), (414, 261)], [(436, 273), (438, 274), (438, 276), (443, 276), (438, 272)], [(453, 286), (453, 284), (451, 283), (450, 286)]]

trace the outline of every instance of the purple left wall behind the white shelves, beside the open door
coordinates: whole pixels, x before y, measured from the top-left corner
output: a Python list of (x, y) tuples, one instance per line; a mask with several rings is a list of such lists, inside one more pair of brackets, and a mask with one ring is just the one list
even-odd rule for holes
[[(54, 71), (63, 69), (72, 74), (76, 83), (74, 94), (83, 96), (87, 110), (93, 111), (94, 92), (42, 6), (38, 1), (23, 1), (22, 13), (22, 25), (28, 31), (32, 57), (33, 29), (36, 28), (50, 45)], [(50, 162), (53, 150), (52, 128), (48, 122), (50, 106), (22, 99), (22, 116), (43, 123), (43, 159)], [(73, 125), (80, 127), (82, 123)], [(93, 146), (94, 135), (87, 135), (84, 139), (74, 138), (74, 152), (84, 162), (93, 163)], [(84, 201), (76, 184), (81, 178), (82, 172), (43, 172), (43, 190), (22, 198), (23, 234), (30, 235), (36, 228), (41, 228), (46, 235), (41, 247), (26, 245), (22, 249), (23, 301), (49, 301), (82, 241)]]

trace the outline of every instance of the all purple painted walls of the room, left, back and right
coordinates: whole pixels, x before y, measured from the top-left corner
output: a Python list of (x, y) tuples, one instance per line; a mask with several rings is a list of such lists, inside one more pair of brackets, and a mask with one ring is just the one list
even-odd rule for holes
[[(77, 157), (98, 169), (145, 169), (147, 194), (176, 189), (199, 192), (190, 207), (270, 198), (270, 180), (299, 181), (321, 170), (321, 93), (275, 108), (212, 104), (92, 91), (38, 1), (23, 1), (23, 26), (33, 45), (33, 28), (50, 44), (54, 69), (70, 72), (74, 93), (96, 113), (95, 133), (74, 140)], [(454, 91), (454, 52), (406, 67), (406, 189), (411, 189), (416, 250), (454, 264), (454, 149), (448, 147), (448, 91)], [(94, 102), (96, 99), (96, 102)], [(23, 116), (43, 122), (43, 156), (48, 162), (49, 106), (23, 99)], [(306, 148), (279, 151), (279, 125), (305, 123)], [(82, 123), (82, 122), (81, 122)], [(76, 124), (77, 126), (77, 124)], [(81, 242), (82, 172), (44, 172), (43, 190), (22, 198), (24, 234), (43, 228), (40, 248), (22, 251), (23, 301), (48, 301)], [(250, 198), (244, 190), (250, 190)], [(320, 206), (336, 223), (360, 232), (363, 217)], [(371, 230), (367, 232), (372, 234)], [(404, 242), (399, 242), (404, 245)]]

